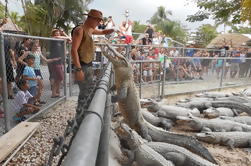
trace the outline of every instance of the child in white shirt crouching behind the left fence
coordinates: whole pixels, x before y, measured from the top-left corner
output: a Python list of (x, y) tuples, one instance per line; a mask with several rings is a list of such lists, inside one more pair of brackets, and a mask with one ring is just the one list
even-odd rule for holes
[(17, 87), (20, 89), (14, 99), (13, 108), (16, 115), (13, 116), (13, 120), (22, 121), (25, 119), (25, 115), (36, 113), (39, 111), (39, 107), (33, 104), (35, 97), (33, 97), (29, 90), (29, 84), (26, 80), (20, 79), (17, 82)]

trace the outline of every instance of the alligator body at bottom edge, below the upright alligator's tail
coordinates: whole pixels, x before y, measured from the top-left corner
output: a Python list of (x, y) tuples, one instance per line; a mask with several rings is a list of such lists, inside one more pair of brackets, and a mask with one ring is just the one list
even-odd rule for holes
[(200, 156), (177, 145), (163, 142), (146, 143), (150, 148), (161, 154), (167, 160), (171, 160), (175, 166), (216, 166)]

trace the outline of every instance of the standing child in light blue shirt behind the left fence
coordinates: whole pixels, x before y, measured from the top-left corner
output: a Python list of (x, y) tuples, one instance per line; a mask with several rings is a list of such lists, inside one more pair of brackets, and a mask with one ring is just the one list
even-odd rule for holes
[(36, 97), (36, 101), (34, 104), (38, 106), (39, 105), (38, 101), (40, 101), (41, 94), (37, 93), (38, 92), (37, 86), (41, 84), (41, 78), (36, 76), (35, 70), (33, 68), (35, 57), (29, 54), (26, 57), (26, 62), (27, 66), (25, 66), (24, 68), (23, 78), (28, 81), (29, 83), (28, 91), (32, 96)]

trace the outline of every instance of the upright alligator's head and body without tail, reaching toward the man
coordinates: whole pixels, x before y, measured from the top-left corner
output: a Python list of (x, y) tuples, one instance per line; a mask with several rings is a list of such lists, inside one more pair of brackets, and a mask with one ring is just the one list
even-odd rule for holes
[(151, 140), (147, 127), (144, 124), (143, 116), (140, 112), (141, 106), (137, 89), (134, 84), (133, 67), (131, 63), (110, 45), (108, 48), (115, 56), (103, 50), (103, 55), (113, 64), (115, 71), (115, 87), (117, 95), (112, 96), (112, 102), (118, 102), (119, 111), (122, 113), (125, 122), (136, 130), (143, 138)]

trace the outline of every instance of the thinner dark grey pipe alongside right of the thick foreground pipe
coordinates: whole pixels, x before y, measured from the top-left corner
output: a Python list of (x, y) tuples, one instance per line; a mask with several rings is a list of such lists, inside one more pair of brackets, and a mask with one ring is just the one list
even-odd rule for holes
[(99, 151), (96, 166), (109, 166), (109, 144), (110, 144), (110, 122), (111, 122), (111, 95), (107, 95), (104, 127), (101, 132), (101, 140), (99, 142)]

